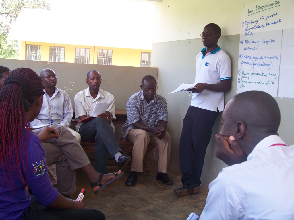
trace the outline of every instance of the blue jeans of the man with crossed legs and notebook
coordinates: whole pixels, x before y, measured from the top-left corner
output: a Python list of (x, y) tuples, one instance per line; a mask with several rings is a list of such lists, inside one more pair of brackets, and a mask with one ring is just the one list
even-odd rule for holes
[(83, 123), (78, 133), (82, 141), (95, 143), (94, 168), (99, 173), (106, 173), (108, 151), (112, 157), (117, 152), (122, 153), (110, 124), (102, 118), (95, 118)]

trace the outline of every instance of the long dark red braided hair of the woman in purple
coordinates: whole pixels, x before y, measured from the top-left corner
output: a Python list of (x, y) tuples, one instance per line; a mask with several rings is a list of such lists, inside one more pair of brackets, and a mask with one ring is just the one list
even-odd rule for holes
[[(24, 97), (24, 88), (21, 84), (5, 83), (7, 79), (15, 76), (22, 77), (20, 79), (26, 81), (25, 84), (28, 85), (26, 97)], [(26, 164), (29, 147), (29, 118), (24, 100), (27, 99), (29, 103), (33, 103), (35, 97), (44, 94), (45, 88), (41, 77), (29, 68), (11, 71), (5, 81), (0, 91), (0, 162), (4, 172), (4, 176), (0, 176), (0, 182), (3, 190), (4, 184), (6, 181), (9, 183), (8, 180), (14, 172), (26, 185), (26, 177), (19, 171), (20, 165)], [(23, 154), (25, 158), (22, 157)], [(9, 188), (13, 190), (13, 181), (11, 182), (12, 186), (9, 185)]]

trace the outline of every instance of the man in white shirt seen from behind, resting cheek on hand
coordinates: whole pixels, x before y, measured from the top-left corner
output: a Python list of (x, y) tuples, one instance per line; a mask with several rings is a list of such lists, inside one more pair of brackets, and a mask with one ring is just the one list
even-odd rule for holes
[(280, 110), (268, 93), (231, 99), (215, 136), (223, 168), (209, 185), (200, 219), (293, 219), (294, 145), (278, 136)]

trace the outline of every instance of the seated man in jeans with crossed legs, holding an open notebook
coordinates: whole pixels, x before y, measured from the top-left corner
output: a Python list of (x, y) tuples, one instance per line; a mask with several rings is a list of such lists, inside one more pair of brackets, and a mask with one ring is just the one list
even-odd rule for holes
[(85, 80), (89, 86), (78, 92), (74, 97), (75, 118), (78, 120), (88, 117), (97, 102), (108, 103), (105, 113), (97, 115), (91, 121), (81, 121), (76, 126), (82, 141), (95, 143), (95, 170), (106, 173), (106, 160), (108, 151), (113, 159), (116, 160), (121, 169), (130, 162), (130, 156), (122, 155), (122, 150), (114, 134), (114, 126), (111, 119), (115, 118), (114, 97), (109, 92), (100, 88), (102, 82), (101, 74), (97, 70), (87, 73)]

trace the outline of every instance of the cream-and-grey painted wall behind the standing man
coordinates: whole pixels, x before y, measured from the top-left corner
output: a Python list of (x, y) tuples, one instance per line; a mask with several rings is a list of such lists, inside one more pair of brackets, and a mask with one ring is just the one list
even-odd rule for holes
[[(240, 40), (240, 21), (243, 6), (257, 4), (258, 0), (163, 0), (156, 5), (155, 31), (152, 45), (151, 66), (158, 67), (158, 94), (167, 99), (169, 122), (167, 131), (172, 137), (170, 165), (180, 171), (179, 139), (182, 121), (191, 103), (192, 94), (173, 91), (181, 83), (193, 83), (196, 72), (196, 55), (203, 48), (200, 33), (208, 23), (217, 23), (222, 35), (218, 45), (231, 58), (232, 88), (225, 93), (227, 103), (236, 93), (238, 52)], [(286, 6), (293, 0), (285, 0)], [(287, 144), (294, 143), (293, 109), (294, 99), (275, 98), (281, 110), (279, 134)], [(205, 163), (201, 176), (202, 184), (209, 185), (225, 163), (215, 157), (216, 142), (214, 135), (221, 130), (220, 116), (213, 128), (210, 144), (206, 150)], [(258, 119), (257, 119), (258, 120)]]

